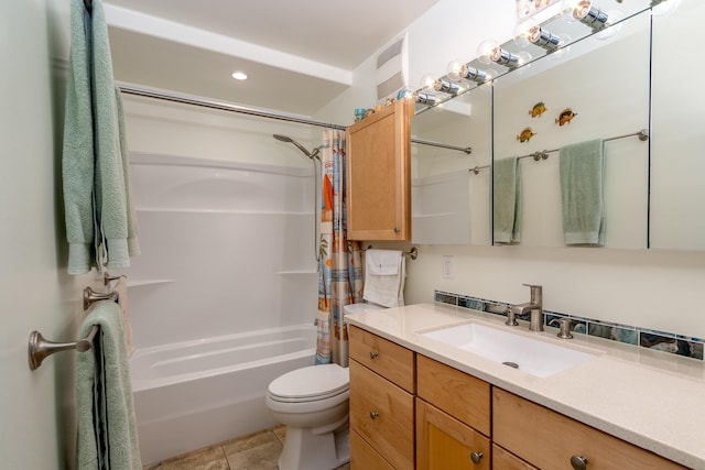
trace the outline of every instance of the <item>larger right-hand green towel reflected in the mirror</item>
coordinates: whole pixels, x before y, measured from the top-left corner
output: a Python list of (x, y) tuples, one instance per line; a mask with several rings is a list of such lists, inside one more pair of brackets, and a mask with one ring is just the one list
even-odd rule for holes
[(561, 198), (565, 244), (605, 244), (604, 141), (561, 147)]

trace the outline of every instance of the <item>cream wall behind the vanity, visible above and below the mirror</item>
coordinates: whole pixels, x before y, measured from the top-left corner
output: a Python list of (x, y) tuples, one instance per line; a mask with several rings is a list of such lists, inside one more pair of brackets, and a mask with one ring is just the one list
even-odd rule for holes
[[(455, 50), (458, 44), (467, 46), (470, 59), (484, 37), (508, 40), (513, 30), (513, 8), (510, 0), (442, 0), (409, 29), (410, 68), (414, 70), (411, 75), (445, 74), (445, 64), (462, 53)], [(355, 94), (361, 96), (362, 91)], [(343, 98), (337, 102), (344, 102)], [(347, 114), (351, 109), (344, 111)], [(327, 108), (321, 113), (334, 116)], [(702, 251), (458, 245), (419, 249), (419, 259), (408, 263), (408, 303), (432, 302), (434, 289), (519, 303), (529, 298), (522, 283), (542, 284), (544, 307), (550, 310), (705, 337), (705, 321), (697, 307), (705, 285)], [(443, 278), (443, 255), (453, 255), (454, 280)]]

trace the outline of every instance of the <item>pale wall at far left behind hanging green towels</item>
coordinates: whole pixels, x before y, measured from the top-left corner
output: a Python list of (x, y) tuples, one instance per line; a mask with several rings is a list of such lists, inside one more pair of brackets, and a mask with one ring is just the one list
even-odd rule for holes
[(68, 1), (0, 2), (0, 467), (70, 469), (74, 352), (30, 371), (28, 339), (76, 339), (83, 287), (66, 274), (61, 133)]

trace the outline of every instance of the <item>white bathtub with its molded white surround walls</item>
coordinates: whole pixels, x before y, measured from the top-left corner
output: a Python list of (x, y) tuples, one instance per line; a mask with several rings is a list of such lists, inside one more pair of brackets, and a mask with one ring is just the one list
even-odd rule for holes
[(305, 166), (131, 160), (143, 254), (128, 277), (130, 367), (150, 462), (273, 426), (268, 384), (313, 364), (313, 168), (289, 154)]

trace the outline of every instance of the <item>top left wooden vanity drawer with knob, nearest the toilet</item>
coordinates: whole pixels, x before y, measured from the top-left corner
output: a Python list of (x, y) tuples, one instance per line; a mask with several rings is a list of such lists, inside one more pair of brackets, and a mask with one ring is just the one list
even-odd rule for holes
[(414, 393), (414, 353), (392, 341), (350, 325), (350, 359)]

